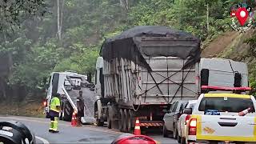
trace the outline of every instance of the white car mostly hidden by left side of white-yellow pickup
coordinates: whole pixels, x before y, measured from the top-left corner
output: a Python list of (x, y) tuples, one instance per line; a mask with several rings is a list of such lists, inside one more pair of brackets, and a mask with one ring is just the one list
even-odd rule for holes
[[(197, 103), (197, 100), (190, 100), (189, 102), (186, 103), (186, 108), (194, 108), (194, 105)], [(190, 114), (182, 114), (178, 118), (178, 142), (185, 144), (185, 138), (186, 138), (186, 123), (190, 119)]]

